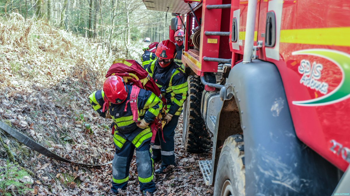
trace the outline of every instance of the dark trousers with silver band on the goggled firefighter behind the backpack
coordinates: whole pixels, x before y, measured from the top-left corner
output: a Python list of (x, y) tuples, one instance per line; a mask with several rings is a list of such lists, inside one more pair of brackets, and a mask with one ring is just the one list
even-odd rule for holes
[(158, 131), (152, 146), (152, 153), (154, 161), (162, 160), (162, 166), (176, 165), (175, 164), (175, 149), (174, 149), (174, 135), (175, 128), (179, 121), (179, 116), (174, 115), (172, 120), (163, 128), (164, 140), (162, 133)]

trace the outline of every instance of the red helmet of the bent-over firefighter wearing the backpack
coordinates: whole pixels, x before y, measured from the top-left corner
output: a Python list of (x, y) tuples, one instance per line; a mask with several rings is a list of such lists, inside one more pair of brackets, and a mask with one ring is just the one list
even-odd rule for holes
[(128, 96), (128, 89), (122, 77), (112, 75), (103, 83), (105, 98), (113, 104), (120, 104)]

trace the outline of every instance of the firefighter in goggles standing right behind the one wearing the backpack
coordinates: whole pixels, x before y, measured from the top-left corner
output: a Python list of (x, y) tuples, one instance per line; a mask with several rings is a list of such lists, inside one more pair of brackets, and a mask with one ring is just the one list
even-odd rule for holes
[(169, 165), (175, 165), (174, 134), (183, 102), (188, 96), (188, 84), (186, 75), (174, 62), (176, 49), (172, 41), (167, 39), (159, 43), (155, 54), (157, 60), (149, 64), (146, 71), (167, 99), (167, 114), (163, 118), (167, 124), (163, 128), (163, 135), (158, 132), (159, 137), (156, 137), (152, 146), (154, 161), (162, 160), (160, 168), (155, 171), (160, 174)]

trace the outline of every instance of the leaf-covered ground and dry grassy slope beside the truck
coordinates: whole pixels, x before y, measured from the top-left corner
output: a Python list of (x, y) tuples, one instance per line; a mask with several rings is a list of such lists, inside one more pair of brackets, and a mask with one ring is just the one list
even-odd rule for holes
[[(0, 43), (0, 120), (67, 159), (90, 164), (112, 160), (110, 120), (100, 118), (87, 101), (92, 91), (102, 88), (103, 73), (112, 61), (103, 48), (16, 14), (0, 21)], [(182, 116), (175, 131), (177, 166), (155, 175), (155, 195), (212, 195), (197, 162), (210, 155), (184, 151)], [(0, 137), (19, 165), (35, 174), (33, 192), (27, 195), (111, 195), (111, 165), (62, 163), (28, 149), (2, 130)], [(0, 159), (5, 166), (8, 155), (3, 149)], [(140, 195), (135, 158), (130, 177), (120, 195)]]

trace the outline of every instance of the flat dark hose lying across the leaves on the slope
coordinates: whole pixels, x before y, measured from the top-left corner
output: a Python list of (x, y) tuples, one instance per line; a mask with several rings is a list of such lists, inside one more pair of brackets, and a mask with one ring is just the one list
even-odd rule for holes
[(65, 159), (63, 157), (58, 156), (54, 152), (51, 152), (44, 146), (36, 143), (34, 140), (30, 139), (29, 137), (23, 135), (22, 133), (16, 131), (12, 127), (6, 125), (5, 123), (0, 121), (0, 129), (6, 131), (8, 134), (10, 134), (12, 137), (16, 138), (19, 142), (23, 143), (24, 145), (28, 146), (31, 150), (35, 150), (47, 157), (53, 158), (58, 161), (66, 162), (66, 163), (73, 163), (73, 164), (78, 164), (78, 165), (86, 165), (86, 166), (104, 166), (111, 164), (112, 161), (109, 161), (108, 163), (102, 164), (102, 165), (92, 165), (92, 164), (86, 164), (86, 163), (78, 163), (74, 162), (68, 159)]

